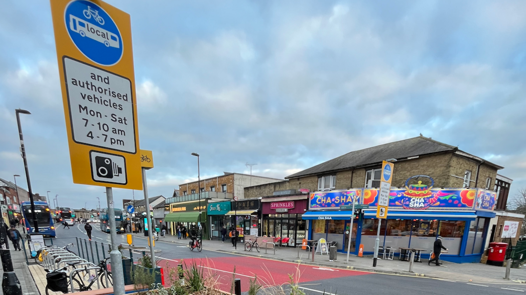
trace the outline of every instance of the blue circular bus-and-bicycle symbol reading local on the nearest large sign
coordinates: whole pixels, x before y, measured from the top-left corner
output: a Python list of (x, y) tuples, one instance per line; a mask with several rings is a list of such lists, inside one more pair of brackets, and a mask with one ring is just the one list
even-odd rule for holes
[(113, 19), (97, 4), (77, 0), (64, 11), (69, 37), (87, 58), (113, 66), (123, 56), (123, 39)]

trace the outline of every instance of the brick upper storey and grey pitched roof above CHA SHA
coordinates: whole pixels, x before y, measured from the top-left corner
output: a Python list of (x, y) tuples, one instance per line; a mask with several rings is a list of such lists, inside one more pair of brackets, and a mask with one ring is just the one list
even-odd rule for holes
[(413, 175), (428, 175), (434, 187), (471, 187), (493, 190), (502, 166), (424, 136), (353, 151), (285, 177), (287, 181), (245, 188), (245, 197), (269, 196), (300, 188), (315, 191), (377, 188), (383, 160), (396, 159), (392, 186), (404, 187)]

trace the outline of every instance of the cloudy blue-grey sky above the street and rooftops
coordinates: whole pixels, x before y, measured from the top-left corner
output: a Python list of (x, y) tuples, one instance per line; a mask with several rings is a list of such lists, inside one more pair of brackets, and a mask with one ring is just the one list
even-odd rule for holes
[[(524, 1), (108, 2), (131, 15), (150, 196), (197, 179), (192, 152), (203, 177), (248, 162), (282, 178), (419, 133), (505, 166), (511, 194), (526, 186)], [(24, 176), (27, 109), (34, 192), (94, 208), (104, 188), (72, 182), (49, 3), (2, 11), (0, 177)]]

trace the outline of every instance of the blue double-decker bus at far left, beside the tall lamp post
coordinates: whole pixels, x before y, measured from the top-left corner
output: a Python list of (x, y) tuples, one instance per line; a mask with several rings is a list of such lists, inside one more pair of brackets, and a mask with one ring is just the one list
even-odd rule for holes
[[(38, 223), (38, 233), (47, 237), (55, 237), (55, 226), (53, 225), (53, 218), (49, 211), (49, 206), (46, 202), (35, 201), (35, 213)], [(33, 212), (31, 210), (31, 202), (24, 201), (22, 205), (22, 215), (24, 216), (24, 224), (28, 234), (34, 233), (33, 227), (35, 222), (33, 220)]]

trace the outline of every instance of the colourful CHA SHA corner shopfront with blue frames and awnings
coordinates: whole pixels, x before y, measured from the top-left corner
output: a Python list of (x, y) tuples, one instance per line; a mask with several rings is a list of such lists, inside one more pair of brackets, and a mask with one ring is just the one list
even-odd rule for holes
[[(414, 178), (419, 181), (409, 184)], [(369, 208), (355, 210), (351, 253), (358, 254), (362, 244), (364, 254), (372, 254), (378, 229), (378, 193), (377, 188), (311, 193), (308, 212), (302, 216), (309, 223), (309, 239), (336, 241), (338, 251), (347, 252), (352, 212), (340, 207), (352, 205), (356, 199), (357, 204)], [(441, 259), (479, 262), (490, 219), (495, 217), (496, 196), (481, 188), (433, 187), (431, 177), (413, 176), (406, 187), (391, 187), (387, 219), (382, 220), (380, 227), (380, 246), (394, 248), (396, 254), (400, 248), (425, 249), (422, 257), (427, 258), (436, 238), (442, 236), (449, 252)]]

